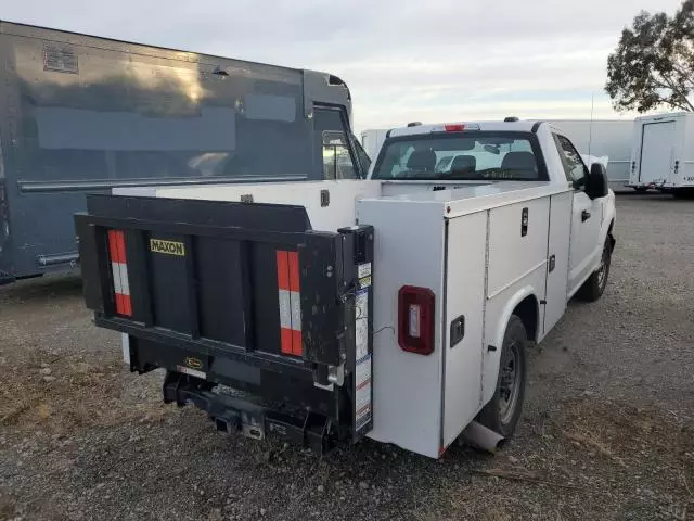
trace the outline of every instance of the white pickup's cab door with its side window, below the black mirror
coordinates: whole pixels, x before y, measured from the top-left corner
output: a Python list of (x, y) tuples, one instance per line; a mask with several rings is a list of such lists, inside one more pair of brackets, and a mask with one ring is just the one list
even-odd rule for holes
[(586, 193), (588, 168), (568, 138), (555, 134), (554, 140), (566, 178), (574, 186), (568, 269), (568, 294), (573, 295), (595, 269), (602, 251), (599, 244), (602, 200), (591, 200)]

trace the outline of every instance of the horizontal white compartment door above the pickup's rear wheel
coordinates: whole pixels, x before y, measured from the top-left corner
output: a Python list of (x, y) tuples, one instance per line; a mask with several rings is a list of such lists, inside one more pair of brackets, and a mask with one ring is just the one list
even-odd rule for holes
[[(527, 208), (527, 232), (522, 218)], [(489, 272), (487, 296), (497, 293), (547, 262), (550, 198), (493, 208), (489, 216)]]

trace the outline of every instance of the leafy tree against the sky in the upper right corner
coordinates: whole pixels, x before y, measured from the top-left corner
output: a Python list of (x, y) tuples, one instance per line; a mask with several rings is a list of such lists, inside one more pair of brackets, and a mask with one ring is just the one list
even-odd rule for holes
[(672, 17), (642, 11), (607, 59), (605, 90), (617, 111), (694, 112), (694, 0)]

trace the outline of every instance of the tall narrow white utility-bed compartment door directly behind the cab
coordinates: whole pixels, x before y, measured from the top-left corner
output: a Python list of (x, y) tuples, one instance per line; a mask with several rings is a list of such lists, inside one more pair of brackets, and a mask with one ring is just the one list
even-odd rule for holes
[[(552, 195), (550, 200), (550, 239), (548, 241), (547, 294), (544, 297), (547, 304), (543, 306), (542, 335), (554, 327), (566, 309), (573, 202), (574, 196), (570, 192)], [(552, 271), (550, 271), (551, 263), (554, 264)]]

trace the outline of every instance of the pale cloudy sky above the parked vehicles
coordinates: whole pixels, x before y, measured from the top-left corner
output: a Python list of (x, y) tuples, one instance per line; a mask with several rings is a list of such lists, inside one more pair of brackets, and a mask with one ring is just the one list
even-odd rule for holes
[(617, 114), (606, 60), (642, 9), (679, 0), (20, 0), (0, 16), (48, 27), (330, 72), (355, 127), (411, 120)]

